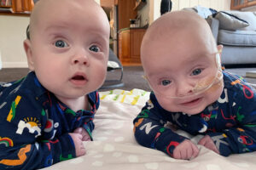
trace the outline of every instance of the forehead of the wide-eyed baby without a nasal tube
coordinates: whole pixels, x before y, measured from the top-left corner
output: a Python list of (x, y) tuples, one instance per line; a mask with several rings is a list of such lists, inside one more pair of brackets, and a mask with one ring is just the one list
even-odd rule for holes
[[(93, 18), (93, 20), (91, 20)], [(49, 26), (90, 28), (108, 33), (108, 18), (94, 0), (41, 0), (30, 19), (31, 33)]]

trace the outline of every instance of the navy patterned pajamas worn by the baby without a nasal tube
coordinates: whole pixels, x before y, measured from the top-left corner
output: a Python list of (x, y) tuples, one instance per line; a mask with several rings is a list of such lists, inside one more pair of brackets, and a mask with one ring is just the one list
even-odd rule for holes
[(41, 86), (34, 72), (0, 85), (0, 169), (49, 167), (75, 157), (73, 133), (90, 134), (99, 107), (97, 92), (88, 94), (90, 111), (74, 112)]

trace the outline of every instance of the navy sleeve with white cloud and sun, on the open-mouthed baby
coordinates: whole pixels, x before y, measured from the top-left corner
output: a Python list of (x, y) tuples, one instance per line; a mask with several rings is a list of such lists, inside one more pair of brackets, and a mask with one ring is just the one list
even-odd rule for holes
[(42, 168), (75, 157), (68, 133), (41, 139), (41, 134), (51, 131), (52, 126), (47, 111), (32, 96), (9, 95), (0, 112), (0, 169)]

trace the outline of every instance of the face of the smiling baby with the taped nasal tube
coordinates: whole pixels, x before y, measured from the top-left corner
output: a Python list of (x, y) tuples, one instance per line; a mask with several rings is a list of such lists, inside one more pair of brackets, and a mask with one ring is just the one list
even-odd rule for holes
[[(143, 68), (160, 105), (167, 111), (200, 113), (222, 93), (218, 73), (217, 48), (207, 37), (181, 31), (172, 37), (143, 44)], [(196, 94), (205, 86), (211, 88)]]

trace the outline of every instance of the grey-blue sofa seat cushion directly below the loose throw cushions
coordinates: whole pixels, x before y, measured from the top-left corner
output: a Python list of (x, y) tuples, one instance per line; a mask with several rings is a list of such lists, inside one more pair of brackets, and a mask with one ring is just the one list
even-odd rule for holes
[(230, 46), (256, 47), (256, 31), (218, 31), (218, 43)]

